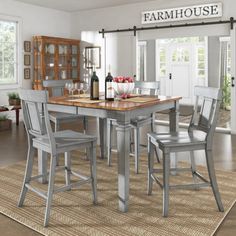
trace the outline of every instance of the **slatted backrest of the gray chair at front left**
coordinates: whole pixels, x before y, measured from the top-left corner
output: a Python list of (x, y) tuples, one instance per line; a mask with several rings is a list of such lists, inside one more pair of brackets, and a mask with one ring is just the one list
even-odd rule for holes
[(27, 134), (37, 138), (41, 136), (47, 138), (54, 154), (56, 152), (56, 142), (47, 109), (48, 92), (21, 89), (19, 95)]

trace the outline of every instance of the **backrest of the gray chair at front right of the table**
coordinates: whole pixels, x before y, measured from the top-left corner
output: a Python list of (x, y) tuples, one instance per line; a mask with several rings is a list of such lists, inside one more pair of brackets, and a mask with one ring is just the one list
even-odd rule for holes
[(196, 86), (194, 92), (196, 102), (189, 131), (197, 129), (205, 132), (207, 134), (206, 139), (209, 139), (208, 145), (211, 145), (220, 108), (221, 90), (218, 88)]

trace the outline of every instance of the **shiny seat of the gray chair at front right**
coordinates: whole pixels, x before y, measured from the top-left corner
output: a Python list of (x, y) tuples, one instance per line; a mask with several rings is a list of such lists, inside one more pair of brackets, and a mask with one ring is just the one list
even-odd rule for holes
[(160, 147), (186, 147), (206, 144), (206, 133), (200, 130), (194, 130), (193, 132), (149, 133), (148, 136), (151, 137), (152, 141), (158, 143)]

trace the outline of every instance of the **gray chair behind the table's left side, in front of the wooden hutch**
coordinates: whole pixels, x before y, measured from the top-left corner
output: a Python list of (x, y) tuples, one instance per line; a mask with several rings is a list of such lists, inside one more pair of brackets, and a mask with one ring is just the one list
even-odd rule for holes
[[(64, 88), (66, 83), (72, 83), (73, 80), (43, 80), (43, 87), (46, 89), (51, 89), (51, 96), (58, 97), (64, 95)], [(52, 112), (49, 111), (50, 120), (55, 124), (54, 131), (58, 131), (60, 124), (69, 123), (79, 119), (83, 119), (84, 132), (88, 128), (87, 118), (81, 115), (68, 114), (64, 112)]]

